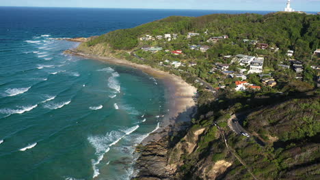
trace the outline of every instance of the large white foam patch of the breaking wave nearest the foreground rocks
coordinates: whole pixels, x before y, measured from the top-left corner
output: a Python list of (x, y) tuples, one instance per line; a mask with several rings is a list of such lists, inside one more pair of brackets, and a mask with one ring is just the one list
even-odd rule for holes
[(105, 153), (109, 152), (110, 147), (116, 145), (125, 136), (135, 132), (137, 128), (139, 128), (139, 125), (124, 130), (124, 135), (121, 135), (120, 132), (112, 131), (110, 133), (107, 133), (106, 136), (90, 136), (88, 138), (89, 142), (96, 149), (96, 155), (98, 156), (97, 160), (92, 160), (92, 168), (94, 170), (93, 178), (98, 177), (98, 175), (100, 175), (100, 172), (96, 165), (100, 164), (100, 162), (103, 160)]

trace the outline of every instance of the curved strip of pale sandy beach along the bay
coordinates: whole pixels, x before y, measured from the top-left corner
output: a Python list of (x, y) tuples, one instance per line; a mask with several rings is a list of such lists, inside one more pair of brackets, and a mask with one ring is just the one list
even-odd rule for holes
[(168, 72), (157, 70), (149, 65), (142, 65), (127, 61), (125, 59), (116, 59), (114, 57), (99, 57), (96, 55), (83, 54), (76, 50), (67, 50), (67, 54), (84, 57), (88, 59), (96, 59), (98, 61), (104, 61), (115, 65), (124, 65), (127, 67), (133, 67), (137, 70), (142, 70), (146, 74), (162, 80), (166, 87), (166, 95), (169, 101), (168, 114), (165, 115), (161, 121), (160, 127), (157, 131), (146, 137), (143, 144), (152, 140), (159, 140), (163, 135), (168, 134), (166, 127), (174, 125), (178, 122), (191, 121), (191, 115), (196, 112), (196, 102), (194, 101), (196, 87), (189, 85), (181, 77)]

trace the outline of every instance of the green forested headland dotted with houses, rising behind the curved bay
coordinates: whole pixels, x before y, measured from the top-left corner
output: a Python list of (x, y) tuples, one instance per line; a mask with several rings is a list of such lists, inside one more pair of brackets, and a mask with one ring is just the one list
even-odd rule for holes
[[(114, 58), (116, 63), (126, 59), (135, 65), (147, 64), (198, 87), (198, 112), (189, 117), (191, 123), (165, 127), (161, 138), (137, 146), (133, 179), (319, 179), (320, 104), (314, 81), (318, 72), (310, 69), (319, 58), (309, 60), (319, 46), (319, 22), (319, 16), (295, 13), (174, 16), (95, 37), (69, 52)], [(188, 37), (189, 31), (198, 36)], [(144, 35), (165, 33), (178, 33), (178, 37), (139, 40)], [(204, 41), (222, 34), (228, 38), (213, 44)], [(246, 44), (249, 39), (267, 42), (272, 48)], [(201, 52), (189, 50), (189, 44), (210, 47)], [(145, 52), (145, 46), (163, 48)], [(277, 47), (280, 50), (275, 52)], [(184, 54), (170, 52), (174, 49), (182, 49)], [(280, 63), (290, 67), (289, 49), (304, 63), (305, 71), (299, 74), (303, 80), (293, 70), (279, 67)], [(261, 85), (260, 91), (235, 91), (240, 79), (229, 78), (213, 64), (231, 64), (227, 55), (238, 53), (264, 57), (263, 72), (276, 77), (279, 85), (268, 87), (258, 74), (248, 74), (247, 81)], [(165, 59), (185, 65), (170, 66)], [(248, 69), (237, 63), (230, 66), (238, 74), (239, 69)]]

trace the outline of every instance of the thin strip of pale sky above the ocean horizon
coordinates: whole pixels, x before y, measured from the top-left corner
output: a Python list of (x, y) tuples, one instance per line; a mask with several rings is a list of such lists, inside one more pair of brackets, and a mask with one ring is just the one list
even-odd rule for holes
[[(185, 10), (282, 11), (287, 0), (0, 0), (0, 6), (108, 7)], [(318, 12), (320, 0), (291, 0), (294, 10)]]

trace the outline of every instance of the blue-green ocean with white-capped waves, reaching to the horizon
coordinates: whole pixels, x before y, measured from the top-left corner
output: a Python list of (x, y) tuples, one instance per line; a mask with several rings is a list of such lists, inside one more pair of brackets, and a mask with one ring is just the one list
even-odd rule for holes
[(0, 7), (0, 179), (129, 179), (134, 145), (168, 112), (163, 83), (55, 38), (213, 13), (244, 12)]

